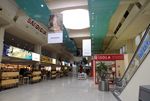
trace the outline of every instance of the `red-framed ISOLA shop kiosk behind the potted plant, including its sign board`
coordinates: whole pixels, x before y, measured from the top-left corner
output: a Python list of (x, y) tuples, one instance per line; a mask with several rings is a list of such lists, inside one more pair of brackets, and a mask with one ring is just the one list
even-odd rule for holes
[(121, 78), (125, 71), (123, 54), (96, 54), (92, 59), (92, 76), (95, 84), (101, 80), (97, 71), (97, 65), (100, 63), (107, 66), (106, 79), (110, 85), (114, 84), (116, 78)]

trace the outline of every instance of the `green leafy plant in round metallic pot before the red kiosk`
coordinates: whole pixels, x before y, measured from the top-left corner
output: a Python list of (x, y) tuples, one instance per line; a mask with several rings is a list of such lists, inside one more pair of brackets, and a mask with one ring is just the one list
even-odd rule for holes
[(100, 62), (96, 65), (96, 71), (97, 71), (98, 76), (100, 78), (99, 90), (108, 91), (109, 90), (109, 85), (108, 85), (108, 80), (107, 80), (108, 66), (105, 63)]

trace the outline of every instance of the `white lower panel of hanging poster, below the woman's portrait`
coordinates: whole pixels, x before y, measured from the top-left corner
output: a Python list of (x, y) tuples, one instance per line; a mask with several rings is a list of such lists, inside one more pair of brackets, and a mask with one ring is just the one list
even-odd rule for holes
[(63, 33), (48, 33), (48, 43), (54, 44), (54, 43), (63, 43)]

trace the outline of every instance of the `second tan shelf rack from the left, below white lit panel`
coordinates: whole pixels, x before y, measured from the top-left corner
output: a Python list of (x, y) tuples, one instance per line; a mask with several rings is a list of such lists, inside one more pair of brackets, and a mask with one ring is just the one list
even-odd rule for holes
[(31, 83), (35, 83), (39, 81), (41, 81), (41, 71), (33, 71)]

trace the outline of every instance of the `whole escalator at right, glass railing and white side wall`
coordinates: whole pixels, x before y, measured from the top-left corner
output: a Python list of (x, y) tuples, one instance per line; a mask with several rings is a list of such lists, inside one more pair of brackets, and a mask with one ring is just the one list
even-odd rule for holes
[[(150, 25), (113, 94), (121, 101), (138, 101), (139, 86), (150, 85)], [(149, 100), (150, 101), (150, 100)]]

